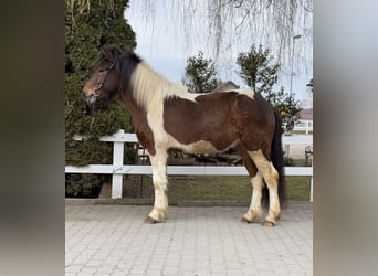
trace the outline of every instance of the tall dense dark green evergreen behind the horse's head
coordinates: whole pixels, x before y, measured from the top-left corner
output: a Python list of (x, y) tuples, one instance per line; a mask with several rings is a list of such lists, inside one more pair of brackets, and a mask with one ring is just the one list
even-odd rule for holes
[[(98, 137), (112, 135), (120, 128), (133, 131), (130, 117), (119, 99), (104, 113), (85, 116), (81, 98), (82, 88), (93, 73), (94, 61), (103, 45), (113, 44), (129, 49), (136, 46), (135, 33), (124, 18), (127, 3), (128, 0), (65, 1), (66, 164), (109, 163), (113, 146), (98, 141)], [(75, 141), (74, 135), (86, 135), (88, 139)], [(127, 150), (125, 155), (128, 155)], [(66, 176), (66, 194), (88, 194), (103, 179), (104, 176)], [(81, 184), (77, 184), (78, 182)]]

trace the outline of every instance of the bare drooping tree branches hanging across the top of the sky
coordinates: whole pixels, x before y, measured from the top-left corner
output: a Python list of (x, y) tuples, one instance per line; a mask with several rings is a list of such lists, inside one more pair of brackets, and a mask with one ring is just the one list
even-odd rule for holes
[[(240, 52), (238, 44), (249, 42), (266, 45), (280, 63), (288, 63), (293, 36), (302, 35), (296, 42), (300, 59), (312, 44), (313, 0), (132, 0), (132, 4), (141, 6), (141, 20), (159, 20), (159, 28), (175, 22), (188, 47), (206, 38), (216, 61), (229, 50)], [(157, 11), (165, 13), (164, 22), (156, 19)]]

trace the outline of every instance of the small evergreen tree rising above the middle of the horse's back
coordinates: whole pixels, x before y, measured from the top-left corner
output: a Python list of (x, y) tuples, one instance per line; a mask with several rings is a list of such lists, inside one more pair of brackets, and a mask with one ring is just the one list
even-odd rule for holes
[(199, 51), (197, 56), (190, 56), (187, 60), (182, 83), (192, 93), (210, 93), (220, 83), (213, 61), (204, 59), (202, 51)]

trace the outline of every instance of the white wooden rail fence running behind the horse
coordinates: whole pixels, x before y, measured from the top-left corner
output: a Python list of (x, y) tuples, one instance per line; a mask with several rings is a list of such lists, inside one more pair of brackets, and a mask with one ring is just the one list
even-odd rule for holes
[[(75, 140), (83, 137), (75, 136)], [(112, 199), (122, 198), (123, 174), (151, 174), (151, 166), (124, 164), (124, 142), (138, 142), (135, 134), (124, 130), (112, 136), (99, 138), (101, 141), (113, 142), (112, 164), (90, 164), (85, 167), (66, 166), (65, 173), (104, 173), (112, 174)], [(313, 136), (283, 136), (283, 145), (313, 145)], [(180, 176), (248, 176), (243, 166), (167, 166), (168, 174)], [(309, 176), (309, 201), (313, 201), (313, 167), (285, 167), (286, 176)]]

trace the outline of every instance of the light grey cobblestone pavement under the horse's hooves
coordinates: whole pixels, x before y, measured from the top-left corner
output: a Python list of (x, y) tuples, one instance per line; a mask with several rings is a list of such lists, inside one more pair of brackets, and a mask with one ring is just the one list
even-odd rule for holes
[(313, 275), (313, 204), (290, 202), (266, 229), (240, 219), (248, 206), (66, 204), (65, 275)]

